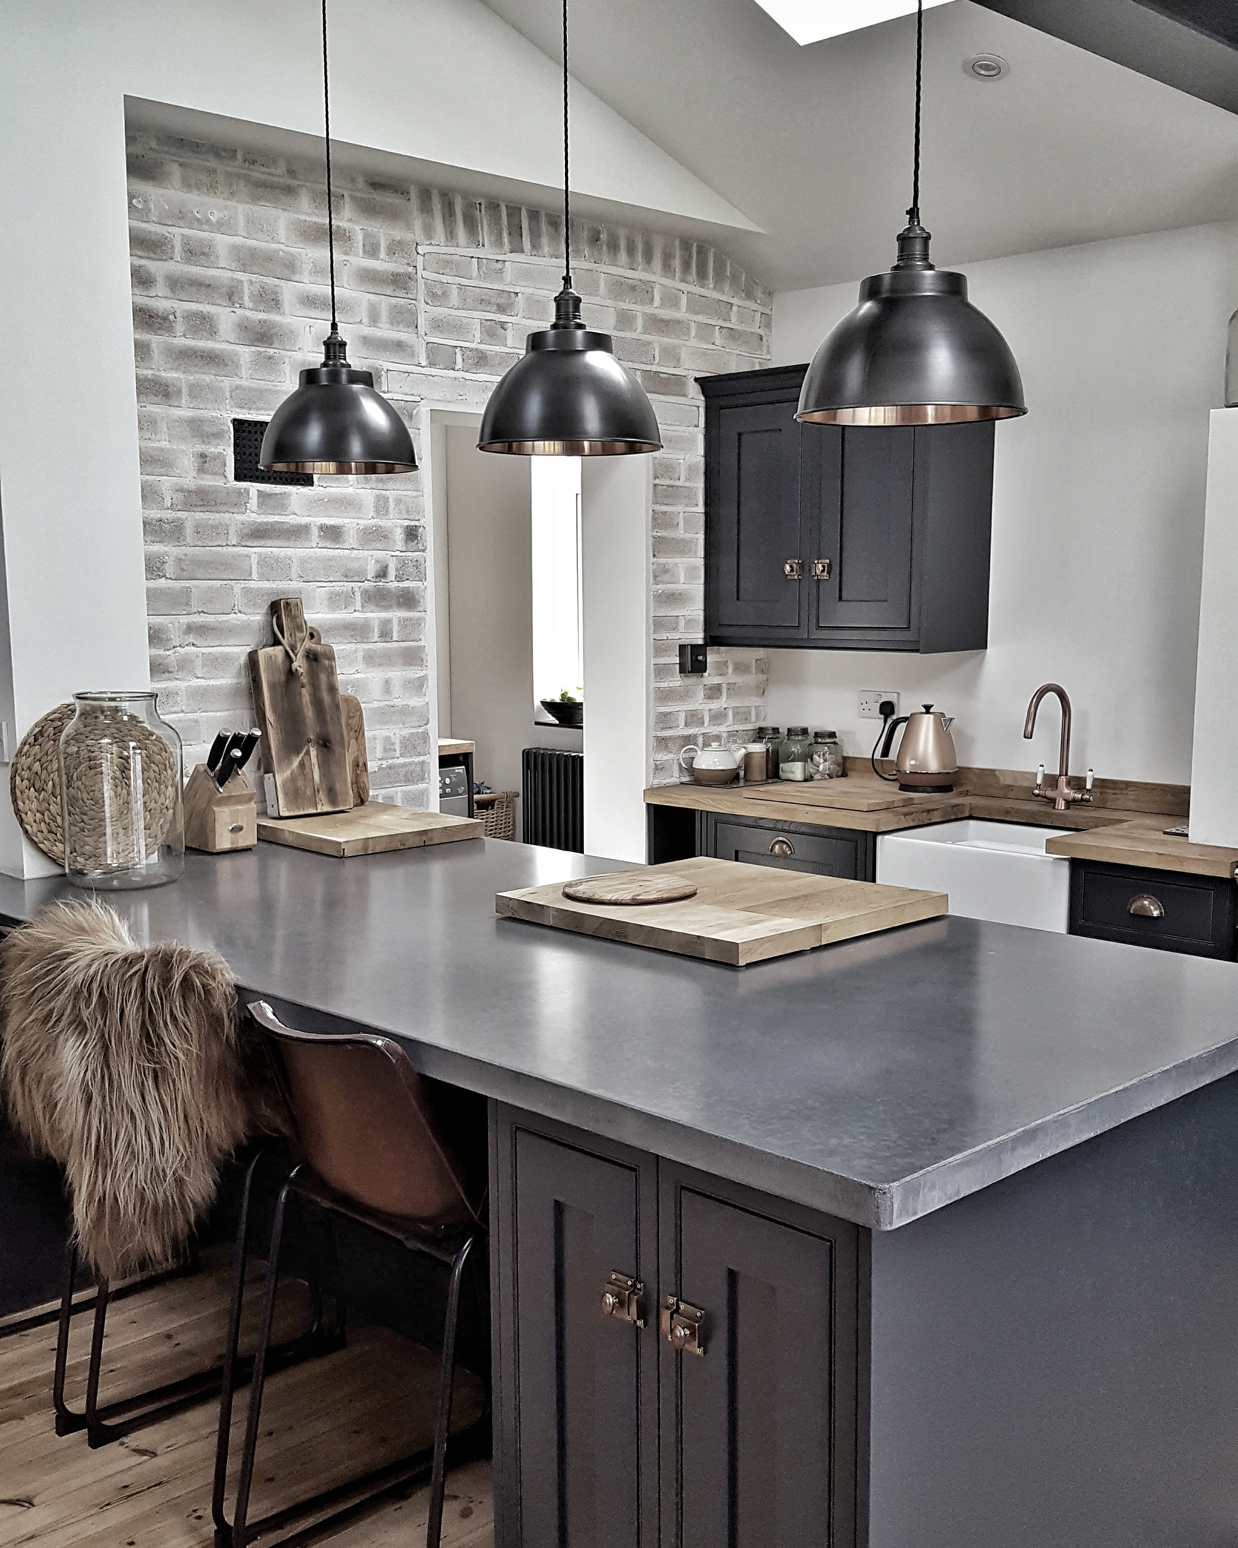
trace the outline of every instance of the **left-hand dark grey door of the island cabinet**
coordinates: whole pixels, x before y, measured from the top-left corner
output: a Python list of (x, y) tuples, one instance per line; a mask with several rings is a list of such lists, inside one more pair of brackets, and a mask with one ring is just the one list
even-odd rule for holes
[(520, 1542), (636, 1548), (639, 1330), (602, 1314), (611, 1271), (636, 1276), (633, 1167), (515, 1135)]

